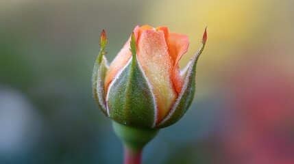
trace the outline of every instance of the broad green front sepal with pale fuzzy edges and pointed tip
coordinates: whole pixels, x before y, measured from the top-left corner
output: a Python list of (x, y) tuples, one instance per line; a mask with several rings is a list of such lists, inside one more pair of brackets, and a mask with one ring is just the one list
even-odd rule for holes
[(156, 122), (156, 102), (136, 58), (134, 33), (130, 51), (130, 61), (110, 83), (106, 97), (108, 117), (127, 126), (153, 128)]

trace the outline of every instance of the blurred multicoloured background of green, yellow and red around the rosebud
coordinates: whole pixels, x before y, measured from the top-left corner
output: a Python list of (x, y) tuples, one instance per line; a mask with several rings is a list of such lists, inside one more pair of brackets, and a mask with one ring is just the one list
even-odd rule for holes
[(189, 36), (197, 92), (143, 163), (294, 163), (294, 1), (0, 1), (0, 163), (121, 163), (91, 73), (102, 29), (108, 60), (136, 25)]

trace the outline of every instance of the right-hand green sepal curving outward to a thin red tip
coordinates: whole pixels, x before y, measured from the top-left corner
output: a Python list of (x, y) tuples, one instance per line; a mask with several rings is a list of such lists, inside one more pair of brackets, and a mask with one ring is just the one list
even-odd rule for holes
[[(204, 35), (206, 35), (206, 31)], [(202, 51), (204, 50), (205, 44), (206, 44), (206, 39), (205, 39), (205, 42), (204, 40), (202, 40), (201, 48), (196, 53), (196, 55), (191, 59), (191, 61), (188, 63), (188, 71), (184, 69), (184, 72), (181, 73), (182, 76), (186, 76), (184, 79), (184, 85), (182, 87), (182, 91), (180, 92), (177, 100), (175, 100), (175, 103), (173, 104), (173, 107), (171, 111), (169, 111), (169, 114), (167, 115), (167, 117), (165, 117), (162, 120), (162, 122), (160, 122), (158, 126), (156, 126), (156, 128), (164, 128), (166, 126), (170, 126), (171, 124), (175, 124), (175, 122), (177, 122), (178, 120), (180, 120), (180, 118), (184, 116), (184, 114), (190, 107), (194, 98), (194, 94), (195, 94), (197, 61)]]

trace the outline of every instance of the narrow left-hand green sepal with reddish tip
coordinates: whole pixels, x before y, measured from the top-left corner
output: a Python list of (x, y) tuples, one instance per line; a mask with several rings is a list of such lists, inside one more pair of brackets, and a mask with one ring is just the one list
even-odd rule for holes
[(107, 115), (106, 101), (105, 101), (105, 90), (104, 90), (104, 79), (106, 77), (107, 67), (107, 59), (104, 55), (106, 55), (105, 46), (107, 43), (107, 38), (105, 31), (103, 30), (100, 37), (100, 46), (101, 50), (97, 56), (95, 61), (95, 65), (93, 68), (92, 74), (92, 86), (93, 86), (93, 95), (94, 98), (99, 105), (101, 111)]

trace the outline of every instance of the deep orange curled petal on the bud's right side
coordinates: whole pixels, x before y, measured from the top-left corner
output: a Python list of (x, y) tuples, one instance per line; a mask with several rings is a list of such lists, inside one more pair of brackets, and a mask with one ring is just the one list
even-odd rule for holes
[(177, 93), (181, 92), (183, 86), (183, 81), (180, 75), (179, 61), (184, 53), (187, 52), (188, 46), (188, 36), (180, 33), (169, 33), (169, 53), (174, 60), (172, 77)]

